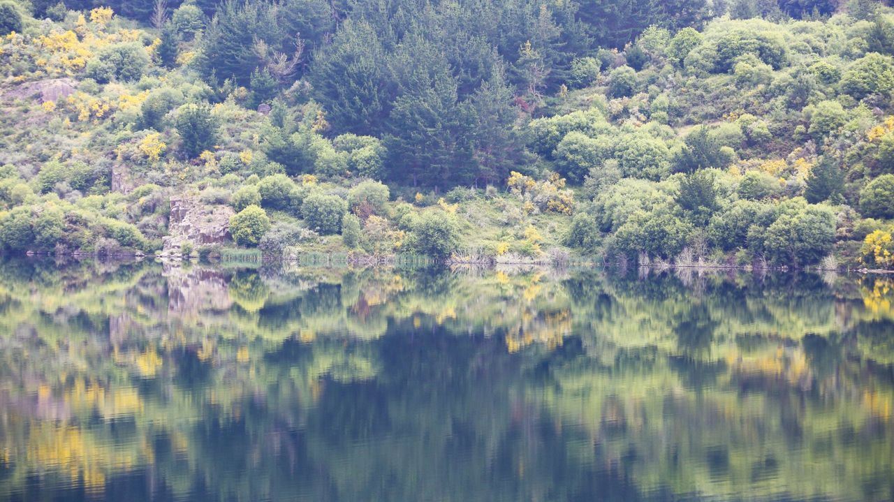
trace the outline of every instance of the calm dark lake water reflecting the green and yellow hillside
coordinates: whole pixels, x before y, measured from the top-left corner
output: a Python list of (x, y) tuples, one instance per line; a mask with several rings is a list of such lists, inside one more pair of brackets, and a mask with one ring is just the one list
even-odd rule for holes
[(890, 500), (894, 280), (0, 264), (0, 500)]

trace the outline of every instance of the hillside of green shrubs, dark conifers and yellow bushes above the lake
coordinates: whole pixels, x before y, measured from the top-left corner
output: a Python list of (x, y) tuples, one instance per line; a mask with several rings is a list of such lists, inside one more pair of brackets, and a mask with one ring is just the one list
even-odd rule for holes
[(0, 0), (9, 254), (894, 266), (868, 0)]

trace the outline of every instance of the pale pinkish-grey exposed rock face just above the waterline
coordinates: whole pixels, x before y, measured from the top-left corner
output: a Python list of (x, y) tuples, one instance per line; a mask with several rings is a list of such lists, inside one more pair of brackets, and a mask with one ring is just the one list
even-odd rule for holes
[(235, 214), (229, 205), (204, 205), (191, 197), (171, 197), (168, 236), (164, 255), (180, 255), (185, 242), (193, 246), (222, 244), (230, 238), (230, 218)]

